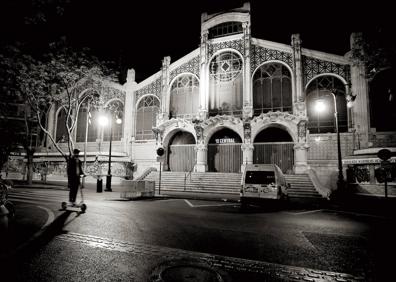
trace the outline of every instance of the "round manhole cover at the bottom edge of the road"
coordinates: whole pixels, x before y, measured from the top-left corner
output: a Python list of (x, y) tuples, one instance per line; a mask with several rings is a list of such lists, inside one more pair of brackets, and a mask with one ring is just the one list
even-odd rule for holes
[[(226, 276), (226, 275), (225, 275)], [(225, 282), (219, 271), (200, 262), (170, 261), (161, 264), (151, 275), (155, 282)]]

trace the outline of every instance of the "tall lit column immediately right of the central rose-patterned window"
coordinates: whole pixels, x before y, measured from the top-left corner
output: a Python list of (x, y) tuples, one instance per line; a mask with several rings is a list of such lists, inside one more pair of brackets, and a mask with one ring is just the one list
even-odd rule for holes
[(253, 93), (250, 75), (250, 23), (243, 23), (243, 41), (244, 41), (244, 68), (243, 68), (243, 118), (253, 116)]

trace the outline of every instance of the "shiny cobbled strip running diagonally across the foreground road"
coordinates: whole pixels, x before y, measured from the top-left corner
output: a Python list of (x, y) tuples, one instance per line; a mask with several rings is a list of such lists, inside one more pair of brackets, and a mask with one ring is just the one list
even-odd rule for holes
[(101, 248), (108, 251), (118, 251), (134, 255), (145, 255), (151, 257), (156, 256), (162, 258), (167, 257), (172, 258), (172, 260), (185, 260), (186, 258), (195, 259), (205, 264), (215, 266), (216, 268), (222, 268), (225, 271), (258, 273), (263, 275), (264, 278), (276, 277), (277, 280), (282, 281), (365, 281), (363, 274), (362, 276), (358, 277), (346, 273), (338, 273), (306, 267), (288, 266), (265, 261), (194, 252), (73, 232), (60, 234), (56, 237), (56, 239), (65, 241), (67, 243), (73, 242), (77, 244), (83, 244), (92, 248)]

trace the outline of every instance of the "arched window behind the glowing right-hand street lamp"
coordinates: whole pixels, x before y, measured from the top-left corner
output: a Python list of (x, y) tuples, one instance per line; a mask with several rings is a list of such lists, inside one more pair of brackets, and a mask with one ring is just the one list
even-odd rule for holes
[[(331, 93), (336, 97), (339, 132), (348, 131), (345, 85), (340, 79), (329, 75), (320, 76), (308, 85), (306, 93), (308, 129), (311, 133), (336, 132), (334, 98)], [(326, 105), (322, 112), (318, 112), (315, 107), (318, 100)]]

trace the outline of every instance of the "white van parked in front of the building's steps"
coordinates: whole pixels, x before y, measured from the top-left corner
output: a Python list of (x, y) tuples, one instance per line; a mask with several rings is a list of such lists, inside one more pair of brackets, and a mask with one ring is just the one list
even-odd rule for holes
[(287, 183), (275, 164), (248, 164), (242, 175), (241, 204), (261, 199), (285, 199)]

